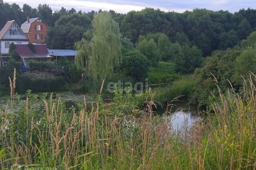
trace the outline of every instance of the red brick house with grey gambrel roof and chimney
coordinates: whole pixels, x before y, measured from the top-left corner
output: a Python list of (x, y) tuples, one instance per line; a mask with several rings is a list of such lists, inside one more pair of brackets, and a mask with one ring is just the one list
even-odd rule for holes
[(28, 37), (30, 43), (44, 43), (48, 31), (47, 24), (40, 18), (29, 18), (22, 23), (22, 31)]

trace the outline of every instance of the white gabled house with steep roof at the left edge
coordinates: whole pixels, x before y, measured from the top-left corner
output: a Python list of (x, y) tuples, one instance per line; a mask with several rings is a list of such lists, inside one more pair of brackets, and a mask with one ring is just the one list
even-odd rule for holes
[(16, 21), (8, 21), (0, 31), (0, 53), (8, 53), (10, 43), (28, 44), (28, 41)]

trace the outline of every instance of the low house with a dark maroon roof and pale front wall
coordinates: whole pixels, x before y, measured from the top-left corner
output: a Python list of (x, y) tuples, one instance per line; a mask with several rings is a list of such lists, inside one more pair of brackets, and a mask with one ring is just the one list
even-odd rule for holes
[(46, 44), (34, 44), (35, 53), (30, 49), (28, 45), (17, 44), (15, 45), (15, 51), (20, 55), (20, 60), (24, 65), (29, 68), (29, 60), (36, 61), (48, 61), (52, 59), (52, 56), (48, 53)]

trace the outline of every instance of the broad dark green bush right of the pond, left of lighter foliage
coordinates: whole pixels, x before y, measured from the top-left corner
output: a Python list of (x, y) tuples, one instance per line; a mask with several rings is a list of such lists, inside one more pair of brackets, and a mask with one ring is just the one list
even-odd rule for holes
[(199, 106), (209, 106), (212, 102), (212, 94), (218, 95), (214, 76), (218, 80), (221, 90), (226, 90), (230, 86), (228, 80), (234, 83), (232, 79), (235, 71), (234, 61), (240, 53), (239, 48), (214, 51), (210, 57), (204, 60), (202, 68), (198, 68), (195, 71), (194, 102), (198, 101)]

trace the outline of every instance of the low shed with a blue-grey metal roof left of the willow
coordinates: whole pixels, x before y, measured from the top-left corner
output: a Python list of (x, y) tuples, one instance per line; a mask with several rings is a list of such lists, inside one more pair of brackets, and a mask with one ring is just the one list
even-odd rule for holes
[(77, 51), (75, 50), (56, 50), (56, 49), (48, 49), (48, 52), (53, 57), (67, 57), (69, 61), (74, 61)]

